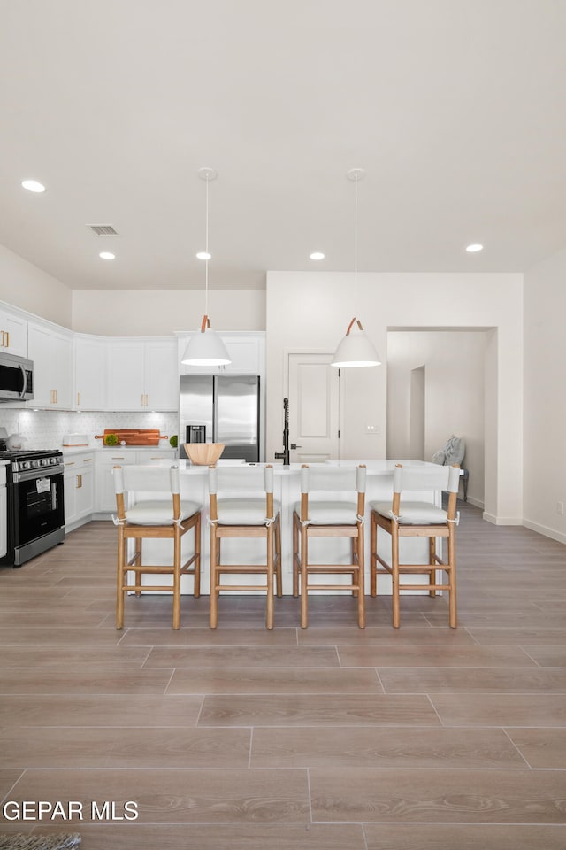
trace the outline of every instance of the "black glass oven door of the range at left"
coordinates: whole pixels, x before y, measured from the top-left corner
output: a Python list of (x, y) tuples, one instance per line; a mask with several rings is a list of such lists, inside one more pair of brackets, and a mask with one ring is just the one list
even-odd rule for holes
[(18, 550), (64, 528), (63, 470), (29, 469), (13, 477), (9, 494), (11, 545)]

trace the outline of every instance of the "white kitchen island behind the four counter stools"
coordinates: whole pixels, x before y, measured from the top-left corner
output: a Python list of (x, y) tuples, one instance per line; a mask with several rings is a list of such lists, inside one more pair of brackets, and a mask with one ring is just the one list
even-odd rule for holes
[[(209, 535), (209, 489), (208, 489), (208, 467), (195, 466), (189, 460), (151, 460), (152, 465), (171, 466), (172, 463), (179, 466), (180, 469), (180, 490), (181, 498), (187, 498), (192, 501), (199, 502), (203, 505), (203, 539), (202, 539), (202, 559), (201, 559), (201, 590), (203, 593), (210, 592), (210, 535)], [(219, 460), (218, 465), (234, 465), (243, 464), (243, 460)], [(393, 494), (393, 473), (396, 463), (402, 463), (404, 466), (411, 467), (432, 467), (433, 464), (423, 460), (327, 460), (326, 463), (333, 466), (355, 466), (358, 463), (365, 464), (367, 468), (367, 486), (365, 497), (365, 569), (366, 569), (366, 587), (369, 588), (369, 572), (370, 572), (370, 503), (371, 501), (383, 501), (392, 498)], [(264, 464), (253, 464), (253, 466), (264, 466)], [(294, 506), (301, 499), (300, 485), (300, 463), (292, 463), (288, 466), (273, 463), (274, 471), (274, 497), (279, 502), (281, 513), (281, 566), (283, 577), (283, 593), (290, 594), (293, 587), (293, 510)], [(337, 498), (336, 493), (325, 494), (325, 498)], [(441, 506), (442, 494), (440, 491), (423, 491), (414, 495), (415, 498), (430, 501), (436, 506)], [(130, 499), (133, 504), (140, 498), (145, 498), (149, 494), (131, 493)], [(152, 497), (152, 498), (155, 498)], [(318, 498), (318, 497), (317, 497)], [(348, 541), (333, 538), (332, 540), (320, 539), (316, 541), (319, 550), (315, 553), (316, 560), (321, 563), (327, 563), (326, 560), (328, 547), (332, 547), (332, 558), (334, 562), (339, 562), (343, 556), (344, 561), (348, 560)], [(191, 535), (187, 535), (183, 539), (183, 553), (190, 554), (192, 545)], [(311, 544), (312, 547), (312, 544)], [(409, 558), (413, 563), (427, 563), (428, 549), (427, 541), (423, 538), (407, 538), (402, 540), (403, 558)], [(154, 563), (171, 563), (172, 553), (171, 546), (164, 541), (148, 540), (144, 542), (147, 555), (146, 560)], [(311, 552), (312, 552), (311, 548)], [(224, 560), (232, 560), (238, 562), (242, 557), (245, 562), (254, 563), (264, 560), (264, 546), (259, 540), (226, 540), (223, 544)], [(379, 535), (379, 553), (390, 559), (391, 549), (388, 535)], [(250, 560), (248, 560), (250, 559)], [(344, 583), (348, 582), (348, 577), (343, 576)], [(149, 576), (150, 579), (150, 576)], [(416, 583), (417, 576), (412, 576), (411, 581)], [(423, 582), (425, 581), (423, 577)], [(149, 582), (148, 582), (149, 583)], [(234, 580), (236, 583), (236, 580)], [(185, 594), (192, 593), (193, 579), (191, 576), (183, 577), (182, 592)], [(378, 585), (379, 594), (391, 593), (391, 579), (389, 576), (379, 576)], [(420, 592), (420, 591), (412, 591)]]

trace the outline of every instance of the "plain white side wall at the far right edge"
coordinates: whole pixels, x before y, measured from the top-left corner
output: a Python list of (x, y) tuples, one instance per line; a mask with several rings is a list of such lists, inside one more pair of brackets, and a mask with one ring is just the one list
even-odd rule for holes
[(524, 524), (566, 543), (566, 250), (524, 275)]

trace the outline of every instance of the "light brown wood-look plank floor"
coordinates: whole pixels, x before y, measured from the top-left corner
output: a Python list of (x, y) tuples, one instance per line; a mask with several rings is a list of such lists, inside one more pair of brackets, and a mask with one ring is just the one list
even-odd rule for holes
[(457, 630), (424, 596), (402, 599), (400, 630), (388, 597), (368, 599), (359, 630), (341, 595), (311, 599), (308, 630), (276, 600), (272, 632), (264, 599), (222, 597), (210, 630), (208, 597), (184, 597), (173, 631), (171, 600), (145, 596), (120, 632), (106, 523), (0, 568), (0, 798), (75, 803), (71, 820), (9, 807), (0, 832), (77, 831), (85, 850), (562, 850), (566, 546), (459, 507)]

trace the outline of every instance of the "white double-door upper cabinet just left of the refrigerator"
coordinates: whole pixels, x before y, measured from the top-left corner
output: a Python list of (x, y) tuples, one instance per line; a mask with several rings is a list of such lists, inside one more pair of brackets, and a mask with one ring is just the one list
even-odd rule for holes
[(176, 341), (109, 340), (108, 406), (111, 410), (177, 410)]

